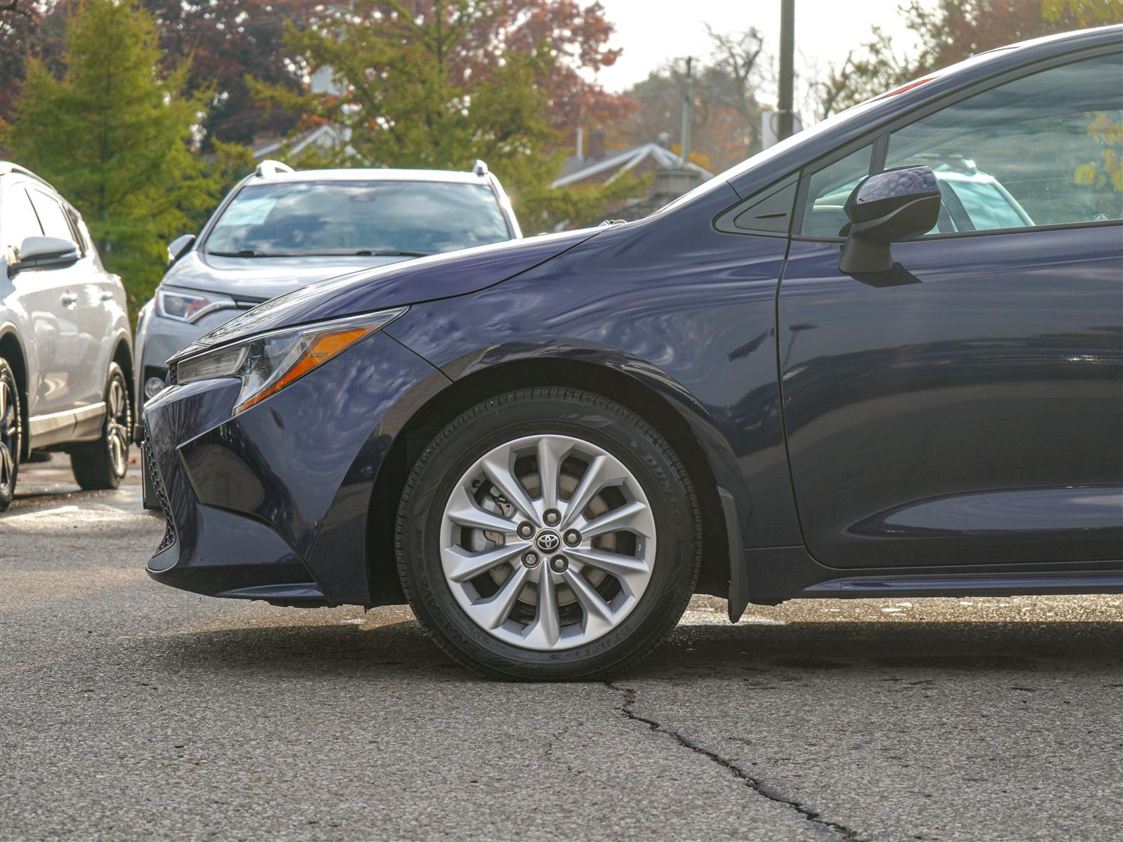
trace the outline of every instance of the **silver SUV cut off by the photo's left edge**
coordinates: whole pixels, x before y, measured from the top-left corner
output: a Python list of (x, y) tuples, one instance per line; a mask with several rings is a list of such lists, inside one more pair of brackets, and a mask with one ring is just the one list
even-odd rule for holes
[(131, 381), (121, 280), (70, 202), (0, 162), (0, 510), (33, 448), (69, 452), (83, 488), (120, 485)]

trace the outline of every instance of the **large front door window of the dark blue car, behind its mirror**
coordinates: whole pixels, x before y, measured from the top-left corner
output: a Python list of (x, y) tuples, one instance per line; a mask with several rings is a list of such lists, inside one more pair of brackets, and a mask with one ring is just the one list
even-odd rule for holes
[(885, 168), (926, 164), (939, 231), (1123, 219), (1123, 54), (1051, 67), (889, 136)]

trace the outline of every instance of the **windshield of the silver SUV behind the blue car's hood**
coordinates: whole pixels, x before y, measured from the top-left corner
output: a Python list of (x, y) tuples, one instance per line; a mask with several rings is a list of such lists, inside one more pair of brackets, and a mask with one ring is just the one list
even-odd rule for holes
[(509, 239), (484, 184), (284, 182), (238, 191), (207, 238), (207, 253), (420, 256)]

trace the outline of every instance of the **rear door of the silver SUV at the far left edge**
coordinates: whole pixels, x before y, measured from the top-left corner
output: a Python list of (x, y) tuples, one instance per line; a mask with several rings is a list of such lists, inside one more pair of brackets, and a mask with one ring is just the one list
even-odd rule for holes
[[(38, 185), (30, 187), (28, 194), (47, 237), (76, 240), (66, 211), (55, 195)], [(65, 383), (61, 394), (61, 405), (65, 409), (98, 403), (104, 390), (104, 377), (99, 368), (101, 345), (107, 336), (102, 318), (104, 304), (81, 244), (79, 250), (82, 257), (75, 263), (45, 271), (53, 276), (53, 284), (60, 291), (53, 377)]]

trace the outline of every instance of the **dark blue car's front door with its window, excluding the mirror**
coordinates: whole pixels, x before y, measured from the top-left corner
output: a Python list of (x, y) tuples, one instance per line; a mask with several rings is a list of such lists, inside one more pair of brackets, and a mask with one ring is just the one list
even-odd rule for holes
[[(779, 368), (821, 564), (1120, 557), (1120, 79), (1119, 53), (1038, 67), (804, 172)], [(838, 198), (916, 164), (941, 222), (892, 272), (842, 274)]]

